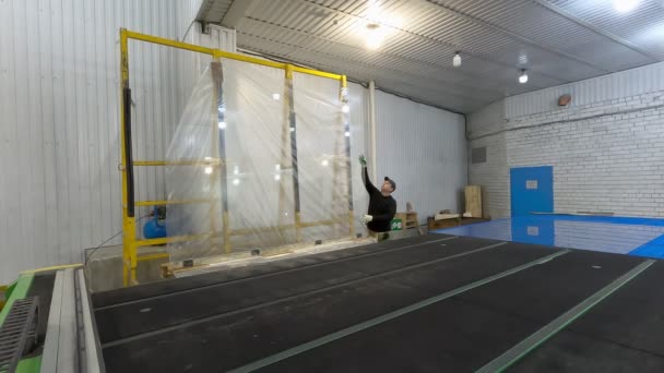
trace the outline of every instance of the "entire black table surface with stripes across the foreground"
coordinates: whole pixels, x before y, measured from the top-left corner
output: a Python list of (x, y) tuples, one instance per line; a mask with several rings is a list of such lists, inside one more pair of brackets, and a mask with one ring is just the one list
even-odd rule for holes
[[(559, 252), (432, 234), (95, 294), (106, 371), (223, 372)], [(643, 258), (571, 251), (263, 371), (470, 372)], [(664, 372), (664, 263), (510, 368)], [(52, 287), (52, 284), (51, 284)]]

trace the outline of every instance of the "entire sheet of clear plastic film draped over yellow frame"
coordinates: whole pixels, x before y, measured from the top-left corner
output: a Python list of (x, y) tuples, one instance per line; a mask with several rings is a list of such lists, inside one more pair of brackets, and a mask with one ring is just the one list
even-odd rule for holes
[(199, 80), (167, 155), (174, 261), (351, 236), (340, 82), (288, 77), (223, 59)]

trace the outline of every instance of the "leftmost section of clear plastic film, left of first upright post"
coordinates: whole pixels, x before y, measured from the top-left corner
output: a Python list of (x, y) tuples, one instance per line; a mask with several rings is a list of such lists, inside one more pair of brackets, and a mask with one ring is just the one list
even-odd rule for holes
[(211, 252), (223, 230), (218, 84), (213, 75), (218, 74), (206, 69), (197, 82), (166, 153), (166, 232), (187, 237), (169, 244), (176, 260)]

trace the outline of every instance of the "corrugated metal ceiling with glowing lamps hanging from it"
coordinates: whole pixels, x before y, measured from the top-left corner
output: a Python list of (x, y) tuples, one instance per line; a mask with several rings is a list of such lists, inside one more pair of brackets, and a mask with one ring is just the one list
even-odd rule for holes
[[(227, 9), (229, 1), (206, 0), (202, 12)], [(251, 36), (240, 37), (246, 49), (300, 63), (315, 59), (305, 51), (333, 55), (343, 63), (325, 65), (354, 71), (348, 73), (354, 79), (380, 76), (392, 86), (404, 79), (415, 84), (435, 80), (444, 87), (441, 92), (425, 88), (427, 92), (419, 94), (430, 99), (442, 97), (447, 101), (453, 97), (450, 91), (465, 95), (472, 87), (481, 88), (475, 82), (484, 82), (483, 91), (491, 94), (478, 95), (464, 107), (487, 105), (506, 93), (580, 81), (653, 61), (537, 1), (377, 0), (387, 41), (374, 52), (366, 51), (364, 41), (366, 17), (372, 16), (366, 0), (256, 0), (237, 28)], [(662, 7), (654, 0), (641, 1), (638, 12), (629, 16), (617, 15), (605, 0), (552, 2), (653, 52), (664, 48), (661, 24), (656, 23), (662, 19)], [(223, 14), (209, 14), (208, 20), (221, 22)], [(450, 61), (456, 50), (462, 51), (464, 61), (460, 69), (452, 69)], [(533, 79), (526, 85), (514, 85), (507, 79), (520, 68), (531, 70)], [(395, 79), (401, 73), (405, 77)]]

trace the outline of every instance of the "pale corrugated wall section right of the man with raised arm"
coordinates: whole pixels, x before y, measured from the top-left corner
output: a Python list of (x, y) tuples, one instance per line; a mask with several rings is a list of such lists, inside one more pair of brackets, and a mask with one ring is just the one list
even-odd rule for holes
[(420, 224), (438, 210), (460, 210), (467, 181), (463, 116), (377, 91), (376, 122), (377, 175), (396, 182), (398, 210), (411, 202)]

